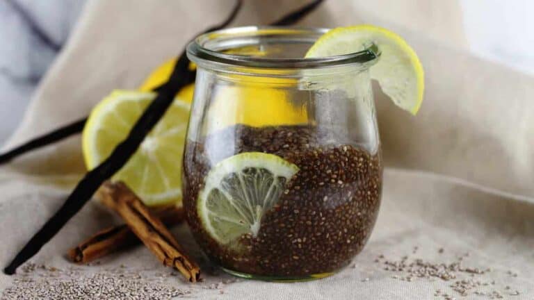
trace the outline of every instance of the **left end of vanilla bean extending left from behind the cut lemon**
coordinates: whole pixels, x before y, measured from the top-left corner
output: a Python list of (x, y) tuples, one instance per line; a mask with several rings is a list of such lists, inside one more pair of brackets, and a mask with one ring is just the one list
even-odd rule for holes
[(58, 128), (55, 131), (51, 131), (44, 135), (41, 135), (38, 138), (29, 140), (28, 142), (7, 151), (0, 155), (0, 165), (3, 163), (8, 163), (13, 158), (24, 154), (26, 152), (38, 149), (40, 147), (58, 142), (58, 140), (63, 140), (64, 138), (70, 137), (76, 133), (80, 133), (83, 129), (83, 126), (86, 124), (87, 118), (79, 119), (78, 121), (67, 124), (61, 128)]

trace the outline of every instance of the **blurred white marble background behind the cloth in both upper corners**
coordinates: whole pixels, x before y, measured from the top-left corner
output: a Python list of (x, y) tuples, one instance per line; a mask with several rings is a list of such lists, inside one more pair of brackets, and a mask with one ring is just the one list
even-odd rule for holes
[[(0, 145), (22, 119), (86, 1), (0, 0)], [(534, 76), (534, 1), (458, 1), (469, 51)]]

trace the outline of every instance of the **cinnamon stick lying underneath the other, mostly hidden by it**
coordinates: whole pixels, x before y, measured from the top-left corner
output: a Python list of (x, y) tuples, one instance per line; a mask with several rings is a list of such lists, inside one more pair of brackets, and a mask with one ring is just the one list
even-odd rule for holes
[[(184, 219), (184, 210), (176, 206), (159, 209), (154, 213), (167, 226), (178, 224)], [(67, 256), (74, 263), (90, 263), (109, 253), (127, 249), (139, 243), (140, 240), (131, 229), (126, 224), (122, 224), (98, 231), (87, 240), (70, 249)]]

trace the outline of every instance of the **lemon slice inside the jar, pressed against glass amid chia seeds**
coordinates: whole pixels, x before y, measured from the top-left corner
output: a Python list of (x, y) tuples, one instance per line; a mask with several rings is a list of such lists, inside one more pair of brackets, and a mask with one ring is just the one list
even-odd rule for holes
[(221, 244), (256, 237), (298, 167), (273, 154), (247, 152), (220, 161), (206, 177), (197, 211), (204, 229)]

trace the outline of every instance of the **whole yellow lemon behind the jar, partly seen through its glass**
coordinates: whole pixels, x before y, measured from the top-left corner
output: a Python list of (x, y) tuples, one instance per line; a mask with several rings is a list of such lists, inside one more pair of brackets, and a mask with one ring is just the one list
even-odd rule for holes
[[(232, 49), (227, 53), (246, 56), (263, 56), (257, 47)], [(176, 59), (167, 60), (154, 69), (140, 90), (150, 91), (168, 80)], [(305, 124), (307, 110), (294, 106), (286, 92), (298, 82), (291, 78), (253, 77), (232, 74), (229, 84), (216, 88), (213, 104), (209, 109), (209, 131), (225, 128), (234, 124), (249, 126), (277, 126)], [(188, 85), (178, 94), (179, 99), (191, 103), (194, 85)]]

